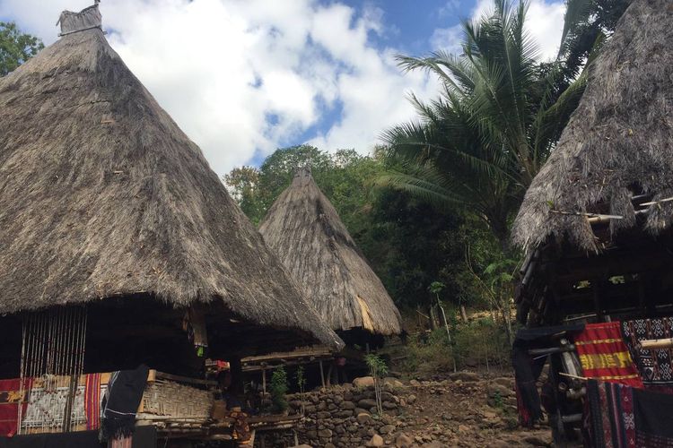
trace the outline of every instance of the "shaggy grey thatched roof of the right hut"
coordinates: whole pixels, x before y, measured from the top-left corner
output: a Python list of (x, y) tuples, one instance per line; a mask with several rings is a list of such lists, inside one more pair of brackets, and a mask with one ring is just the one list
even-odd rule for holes
[[(590, 80), (546, 165), (530, 185), (514, 223), (526, 249), (548, 237), (597, 249), (582, 213), (621, 216), (611, 231), (632, 228), (632, 197), (673, 196), (673, 4), (634, 0), (590, 67)], [(563, 214), (572, 212), (577, 214)], [(579, 213), (578, 213), (579, 212)], [(653, 235), (669, 228), (673, 202), (642, 213)]]

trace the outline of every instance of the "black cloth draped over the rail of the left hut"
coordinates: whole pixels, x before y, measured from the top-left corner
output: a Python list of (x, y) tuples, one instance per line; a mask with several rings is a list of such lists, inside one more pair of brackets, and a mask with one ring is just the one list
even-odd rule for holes
[(149, 367), (119, 370), (110, 376), (101, 405), (101, 440), (116, 439), (134, 432), (135, 412), (143, 399)]

